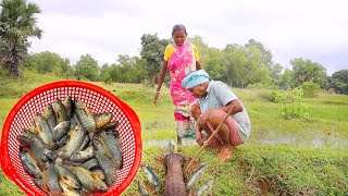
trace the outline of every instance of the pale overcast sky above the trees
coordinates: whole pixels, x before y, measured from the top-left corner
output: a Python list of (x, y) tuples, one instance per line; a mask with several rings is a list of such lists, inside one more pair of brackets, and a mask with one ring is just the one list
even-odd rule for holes
[[(30, 0), (29, 0), (30, 1)], [(291, 68), (294, 58), (322, 64), (327, 74), (348, 69), (348, 1), (345, 0), (32, 0), (41, 39), (30, 52), (51, 51), (72, 63), (90, 53), (98, 63), (119, 54), (139, 56), (142, 34), (170, 38), (175, 24), (209, 47), (256, 39), (273, 61)], [(199, 48), (198, 48), (199, 50)]]

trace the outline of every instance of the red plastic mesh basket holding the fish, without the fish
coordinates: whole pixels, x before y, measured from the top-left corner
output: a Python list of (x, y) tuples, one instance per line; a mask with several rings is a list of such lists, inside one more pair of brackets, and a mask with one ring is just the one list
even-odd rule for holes
[(120, 195), (133, 181), (141, 161), (141, 126), (134, 110), (108, 90), (84, 82), (61, 81), (40, 86), (23, 98), (10, 111), (3, 128), (0, 145), (0, 160), (3, 173), (27, 195), (46, 195), (22, 167), (18, 158), (20, 144), (16, 136), (22, 128), (29, 127), (36, 111), (42, 113), (47, 103), (55, 98), (64, 100), (66, 95), (79, 98), (92, 112), (112, 112), (119, 121), (117, 131), (122, 138), (123, 169), (117, 172), (116, 183), (103, 194)]

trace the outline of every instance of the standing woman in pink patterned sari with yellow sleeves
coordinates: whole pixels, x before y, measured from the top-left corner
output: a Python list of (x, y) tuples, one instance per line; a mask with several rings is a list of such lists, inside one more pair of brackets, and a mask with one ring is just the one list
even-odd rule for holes
[(183, 137), (195, 137), (190, 109), (197, 101), (197, 98), (182, 86), (182, 81), (189, 73), (202, 69), (196, 46), (186, 37), (187, 33), (184, 25), (179, 24), (173, 27), (172, 38), (175, 44), (170, 44), (165, 48), (163, 66), (153, 100), (153, 103), (157, 105), (164, 76), (169, 70), (171, 74), (170, 89), (174, 103), (177, 142), (179, 144)]

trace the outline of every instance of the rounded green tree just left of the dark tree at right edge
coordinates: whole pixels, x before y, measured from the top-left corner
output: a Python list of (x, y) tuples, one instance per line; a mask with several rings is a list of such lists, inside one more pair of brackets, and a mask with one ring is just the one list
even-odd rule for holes
[(297, 86), (304, 82), (313, 82), (324, 86), (326, 81), (326, 70), (319, 63), (303, 60), (302, 58), (290, 60), (293, 65), (295, 83)]

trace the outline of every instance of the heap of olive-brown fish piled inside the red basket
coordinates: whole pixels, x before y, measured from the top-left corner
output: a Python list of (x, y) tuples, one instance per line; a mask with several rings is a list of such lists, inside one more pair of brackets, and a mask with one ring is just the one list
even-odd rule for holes
[(48, 103), (16, 137), (24, 170), (49, 195), (107, 192), (123, 167), (119, 122), (112, 118), (70, 96)]

